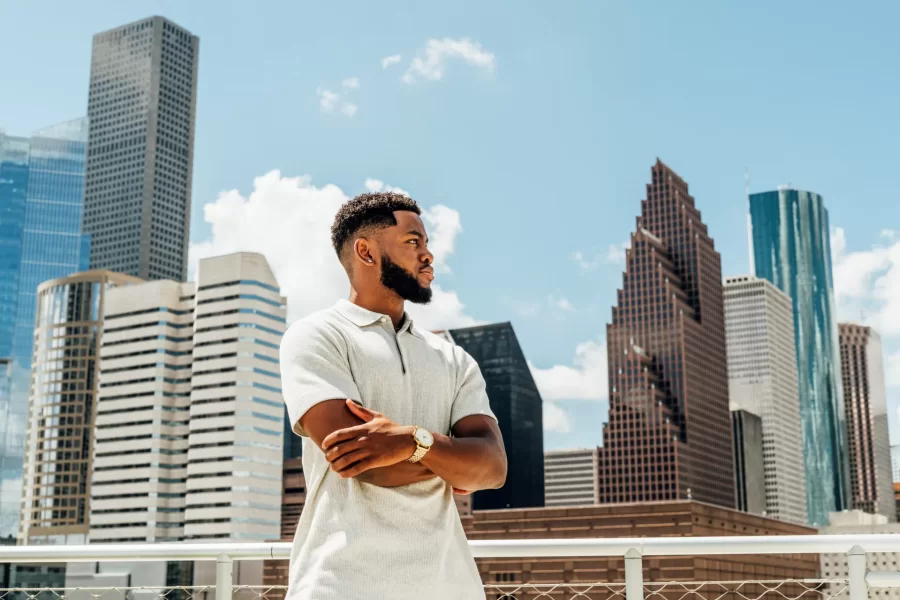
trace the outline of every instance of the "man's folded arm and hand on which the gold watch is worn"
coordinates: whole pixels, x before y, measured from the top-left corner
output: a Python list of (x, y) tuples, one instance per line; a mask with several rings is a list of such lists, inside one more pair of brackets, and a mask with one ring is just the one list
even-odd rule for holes
[[(411, 464), (405, 461), (416, 450), (413, 427), (393, 423), (352, 401), (346, 405), (357, 420), (365, 422), (341, 428), (323, 440), (322, 448), (332, 470), (341, 477), (359, 478), (384, 464)], [(454, 425), (453, 437), (440, 433), (433, 436), (434, 444), (417, 464), (455, 490), (496, 489), (506, 482), (506, 451), (493, 418), (470, 415)]]

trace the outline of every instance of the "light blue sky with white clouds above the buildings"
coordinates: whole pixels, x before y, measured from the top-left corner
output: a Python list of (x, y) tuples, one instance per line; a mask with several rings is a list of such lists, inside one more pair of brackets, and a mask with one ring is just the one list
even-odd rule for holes
[(545, 448), (602, 441), (605, 329), (650, 167), (689, 184), (724, 275), (746, 192), (830, 211), (838, 317), (882, 334), (900, 441), (900, 3), (0, 0), (0, 128), (87, 111), (91, 36), (200, 36), (191, 263), (266, 254), (290, 318), (346, 294), (341, 202), (399, 188), (441, 264), (431, 327), (511, 321)]

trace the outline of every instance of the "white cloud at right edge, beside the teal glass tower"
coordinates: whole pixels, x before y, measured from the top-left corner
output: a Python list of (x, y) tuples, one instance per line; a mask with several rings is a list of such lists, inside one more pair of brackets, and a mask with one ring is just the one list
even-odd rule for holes
[(846, 233), (831, 232), (832, 272), (838, 319), (860, 320), (882, 335), (900, 334), (900, 239), (880, 234), (883, 243), (868, 250), (847, 250)]

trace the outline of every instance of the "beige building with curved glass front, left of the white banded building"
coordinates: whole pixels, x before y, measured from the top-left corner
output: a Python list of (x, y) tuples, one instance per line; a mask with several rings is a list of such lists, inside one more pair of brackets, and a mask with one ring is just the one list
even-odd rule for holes
[(106, 296), (135, 277), (86, 271), (38, 288), (19, 542), (85, 543)]

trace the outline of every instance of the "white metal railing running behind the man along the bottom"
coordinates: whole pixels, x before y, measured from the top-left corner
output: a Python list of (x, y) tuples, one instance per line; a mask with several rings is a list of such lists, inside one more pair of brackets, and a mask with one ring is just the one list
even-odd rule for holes
[[(756, 600), (775, 596), (787, 600), (817, 597), (831, 600), (849, 596), (866, 600), (868, 590), (900, 588), (900, 572), (868, 572), (866, 555), (871, 552), (900, 553), (900, 534), (804, 535), (804, 536), (721, 536), (681, 538), (581, 538), (535, 540), (476, 540), (469, 545), (476, 558), (585, 558), (621, 557), (625, 560), (625, 581), (597, 583), (486, 583), (495, 598), (605, 598), (610, 600), (661, 600), (676, 598)], [(0, 546), (3, 563), (154, 562), (215, 561), (212, 586), (166, 586), (166, 588), (21, 588), (0, 589), (0, 600), (45, 598), (46, 594), (65, 600), (105, 600), (115, 597), (159, 600), (267, 600), (283, 597), (282, 586), (235, 585), (235, 560), (287, 560), (291, 545), (273, 543), (218, 544), (96, 544), (85, 546)], [(672, 556), (846, 554), (846, 579), (798, 579), (777, 581), (697, 581), (644, 582), (645, 558)], [(787, 591), (790, 590), (790, 591)], [(79, 596), (83, 592), (83, 596)], [(175, 598), (173, 592), (179, 592)], [(39, 594), (44, 594), (39, 596)], [(124, 594), (124, 596), (120, 595)]]

